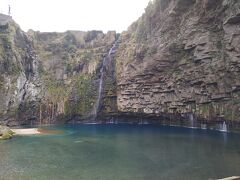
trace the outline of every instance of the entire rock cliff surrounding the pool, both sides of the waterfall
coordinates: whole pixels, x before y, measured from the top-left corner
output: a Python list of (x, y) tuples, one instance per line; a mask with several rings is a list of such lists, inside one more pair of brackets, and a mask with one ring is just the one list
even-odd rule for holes
[(0, 44), (2, 124), (79, 122), (96, 113), (99, 121), (240, 121), (238, 0), (150, 1), (120, 37), (25, 33), (0, 14)]

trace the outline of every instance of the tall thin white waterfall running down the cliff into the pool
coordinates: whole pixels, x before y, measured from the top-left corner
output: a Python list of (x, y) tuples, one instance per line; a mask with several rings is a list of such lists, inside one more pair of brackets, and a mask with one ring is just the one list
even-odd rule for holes
[(97, 96), (97, 102), (95, 104), (94, 110), (93, 110), (93, 120), (96, 120), (98, 112), (99, 112), (99, 108), (100, 108), (100, 103), (102, 100), (102, 91), (103, 91), (103, 80), (104, 80), (104, 72), (105, 72), (105, 67), (107, 65), (108, 59), (111, 59), (111, 54), (113, 53), (114, 49), (115, 49), (116, 43), (113, 44), (113, 46), (111, 47), (111, 49), (108, 52), (107, 57), (103, 58), (103, 63), (100, 69), (100, 79), (99, 79), (99, 84), (98, 84), (98, 96)]

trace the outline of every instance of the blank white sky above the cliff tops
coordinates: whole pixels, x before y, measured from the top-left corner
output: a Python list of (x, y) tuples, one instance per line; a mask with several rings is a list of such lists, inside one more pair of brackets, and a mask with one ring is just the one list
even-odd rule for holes
[(0, 12), (11, 5), (24, 31), (126, 30), (142, 15), (149, 0), (0, 0)]

